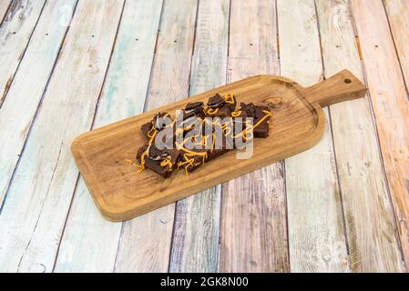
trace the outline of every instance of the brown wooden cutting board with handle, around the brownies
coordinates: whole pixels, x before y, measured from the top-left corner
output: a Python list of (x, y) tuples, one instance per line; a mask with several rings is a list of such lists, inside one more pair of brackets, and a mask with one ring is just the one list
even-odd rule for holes
[[(110, 221), (128, 220), (315, 146), (324, 131), (322, 107), (363, 97), (365, 91), (348, 71), (308, 88), (284, 77), (256, 75), (80, 135), (73, 141), (72, 152), (102, 216)], [(126, 162), (135, 160), (138, 148), (147, 143), (142, 124), (159, 111), (174, 115), (187, 103), (207, 102), (216, 93), (234, 94), (239, 104), (272, 106), (270, 136), (254, 139), (251, 159), (238, 160), (237, 152), (231, 150), (189, 176), (179, 171), (168, 179), (148, 169), (138, 174)]]

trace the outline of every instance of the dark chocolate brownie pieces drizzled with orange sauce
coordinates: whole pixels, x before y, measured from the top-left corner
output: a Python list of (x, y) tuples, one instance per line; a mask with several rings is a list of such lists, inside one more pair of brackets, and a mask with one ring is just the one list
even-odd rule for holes
[(267, 106), (240, 103), (235, 95), (213, 95), (207, 104), (194, 102), (172, 117), (159, 112), (141, 126), (147, 144), (137, 153), (139, 170), (168, 178), (241, 149), (253, 138), (267, 138), (271, 112)]

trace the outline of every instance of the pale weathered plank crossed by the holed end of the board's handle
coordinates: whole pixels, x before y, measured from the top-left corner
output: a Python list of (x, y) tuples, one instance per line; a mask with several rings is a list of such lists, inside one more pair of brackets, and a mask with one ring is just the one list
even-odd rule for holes
[[(316, 5), (325, 75), (347, 68), (363, 81), (349, 2)], [(330, 107), (351, 270), (398, 272), (400, 246), (370, 106), (367, 96)]]

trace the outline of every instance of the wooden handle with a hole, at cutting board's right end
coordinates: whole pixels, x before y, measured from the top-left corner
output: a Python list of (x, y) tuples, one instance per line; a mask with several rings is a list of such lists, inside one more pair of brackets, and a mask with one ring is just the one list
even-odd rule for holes
[(366, 88), (363, 83), (348, 70), (343, 70), (317, 85), (305, 88), (307, 98), (322, 107), (363, 98), (365, 93)]

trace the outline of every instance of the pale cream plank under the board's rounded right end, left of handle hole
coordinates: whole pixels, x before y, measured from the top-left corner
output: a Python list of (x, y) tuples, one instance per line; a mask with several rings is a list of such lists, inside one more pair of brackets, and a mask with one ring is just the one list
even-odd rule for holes
[[(322, 78), (314, 1), (277, 2), (281, 75), (302, 85)], [(328, 111), (324, 110), (328, 119)], [(285, 162), (292, 272), (349, 270), (329, 124), (322, 141)]]

